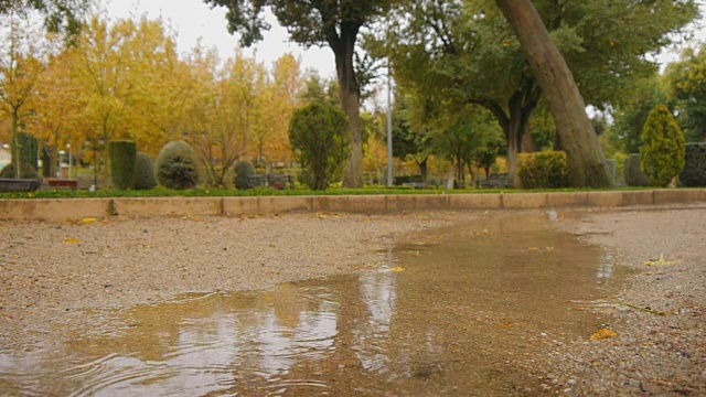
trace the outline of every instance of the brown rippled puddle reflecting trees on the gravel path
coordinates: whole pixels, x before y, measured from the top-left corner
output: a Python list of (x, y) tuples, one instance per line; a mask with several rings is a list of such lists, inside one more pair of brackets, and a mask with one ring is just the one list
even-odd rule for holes
[(354, 276), (89, 312), (89, 329), (0, 350), (0, 394), (526, 395), (534, 357), (601, 323), (568, 301), (616, 282), (610, 257), (527, 216), (384, 254)]

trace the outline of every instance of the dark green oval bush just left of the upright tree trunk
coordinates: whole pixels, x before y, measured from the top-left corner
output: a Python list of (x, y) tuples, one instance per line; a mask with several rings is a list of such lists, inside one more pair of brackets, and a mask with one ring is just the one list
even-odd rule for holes
[(325, 190), (340, 179), (349, 155), (347, 118), (340, 109), (313, 103), (295, 111), (289, 140), (299, 151), (306, 171), (301, 182), (312, 190)]

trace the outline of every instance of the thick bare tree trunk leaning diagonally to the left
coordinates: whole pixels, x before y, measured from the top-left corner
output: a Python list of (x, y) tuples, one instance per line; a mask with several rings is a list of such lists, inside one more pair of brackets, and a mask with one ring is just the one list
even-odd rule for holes
[(564, 57), (531, 0), (495, 0), (522, 43), (554, 115), (575, 186), (611, 186), (610, 171), (586, 115), (586, 104)]

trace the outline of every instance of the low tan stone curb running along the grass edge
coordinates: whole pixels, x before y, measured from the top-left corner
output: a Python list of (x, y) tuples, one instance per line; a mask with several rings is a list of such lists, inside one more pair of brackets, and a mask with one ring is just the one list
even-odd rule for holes
[(706, 190), (622, 192), (409, 194), (350, 196), (0, 200), (3, 221), (78, 221), (108, 216), (237, 216), (289, 212), (395, 214), (420, 211), (624, 207), (706, 203)]

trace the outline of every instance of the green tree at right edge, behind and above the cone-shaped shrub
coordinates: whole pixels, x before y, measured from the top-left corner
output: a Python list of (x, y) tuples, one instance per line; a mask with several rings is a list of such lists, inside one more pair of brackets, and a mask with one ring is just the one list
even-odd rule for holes
[(687, 49), (666, 68), (672, 95), (677, 100), (680, 125), (689, 141), (706, 141), (706, 45)]

